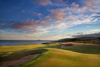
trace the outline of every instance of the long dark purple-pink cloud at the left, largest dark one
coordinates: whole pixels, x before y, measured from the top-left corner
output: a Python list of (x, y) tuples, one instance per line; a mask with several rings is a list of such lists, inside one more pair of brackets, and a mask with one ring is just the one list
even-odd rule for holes
[(15, 29), (15, 30), (19, 30), (19, 29), (27, 29), (28, 27), (36, 27), (36, 23), (37, 21), (34, 21), (34, 19), (30, 20), (26, 19), (26, 20), (22, 20), (22, 21), (12, 21), (12, 20), (8, 20), (6, 21), (6, 25), (2, 24), (2, 26), (0, 25), (1, 29), (6, 29), (6, 28), (10, 28), (10, 29)]

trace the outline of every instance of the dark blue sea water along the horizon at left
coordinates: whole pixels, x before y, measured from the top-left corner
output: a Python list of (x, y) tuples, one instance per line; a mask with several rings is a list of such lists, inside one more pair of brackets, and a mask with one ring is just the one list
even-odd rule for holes
[(50, 40), (0, 40), (0, 46), (5, 45), (24, 45), (24, 44), (41, 44), (50, 42)]

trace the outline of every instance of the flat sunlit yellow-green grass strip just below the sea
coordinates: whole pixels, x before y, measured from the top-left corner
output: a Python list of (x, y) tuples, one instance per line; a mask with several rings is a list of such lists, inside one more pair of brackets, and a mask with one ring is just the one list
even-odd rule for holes
[(30, 50), (30, 49), (35, 49), (38, 47), (45, 47), (47, 45), (41, 45), (41, 44), (29, 44), (29, 45), (12, 45), (12, 46), (0, 46), (0, 53), (2, 52), (14, 52), (14, 51), (19, 51), (19, 50)]

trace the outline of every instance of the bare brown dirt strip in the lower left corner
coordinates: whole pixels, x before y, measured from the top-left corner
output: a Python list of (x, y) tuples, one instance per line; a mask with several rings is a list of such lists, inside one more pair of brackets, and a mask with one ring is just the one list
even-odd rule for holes
[(15, 66), (18, 66), (20, 64), (23, 64), (23, 63), (29, 61), (30, 59), (32, 59), (33, 57), (35, 57), (37, 55), (39, 55), (39, 54), (28, 55), (28, 56), (25, 56), (18, 60), (4, 61), (4, 62), (0, 63), (0, 67), (15, 67)]

